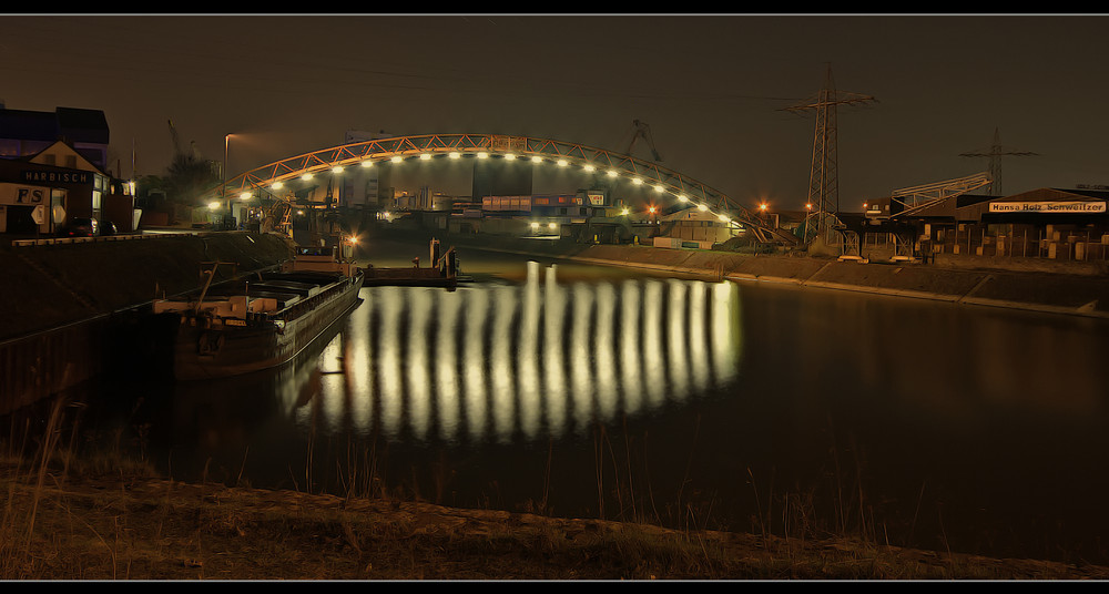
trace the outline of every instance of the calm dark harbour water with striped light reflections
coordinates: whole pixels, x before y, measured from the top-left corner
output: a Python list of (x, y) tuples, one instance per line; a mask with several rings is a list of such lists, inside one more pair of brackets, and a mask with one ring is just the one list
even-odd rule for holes
[(123, 422), (181, 480), (1109, 563), (1102, 320), (464, 267), (503, 274), (364, 288), (275, 372), (115, 387)]

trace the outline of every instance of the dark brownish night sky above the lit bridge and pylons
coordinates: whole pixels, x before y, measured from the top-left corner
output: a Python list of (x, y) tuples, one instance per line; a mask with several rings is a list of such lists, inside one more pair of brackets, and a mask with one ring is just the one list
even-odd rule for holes
[[(647, 122), (660, 165), (754, 205), (800, 208), (815, 120), (838, 90), (845, 209), (989, 170), (1007, 194), (1109, 185), (1109, 19), (1085, 16), (0, 17), (8, 109), (103, 110), (121, 173), (161, 174), (166, 124), (232, 174), (347, 130), (496, 133), (622, 151)], [(633, 152), (650, 158), (644, 142)], [(114, 165), (113, 165), (114, 167)], [(465, 190), (468, 191), (468, 187)]]

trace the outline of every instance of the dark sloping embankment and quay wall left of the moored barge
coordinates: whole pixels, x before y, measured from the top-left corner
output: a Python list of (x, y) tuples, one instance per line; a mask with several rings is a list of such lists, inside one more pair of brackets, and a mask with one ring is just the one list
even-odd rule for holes
[(108, 366), (143, 365), (140, 311), (156, 296), (292, 257), (283, 238), (245, 233), (0, 246), (0, 414), (63, 392)]

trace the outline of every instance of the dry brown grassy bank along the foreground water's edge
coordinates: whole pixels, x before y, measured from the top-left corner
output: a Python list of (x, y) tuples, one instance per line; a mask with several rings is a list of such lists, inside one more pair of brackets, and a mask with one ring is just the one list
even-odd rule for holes
[[(642, 512), (613, 522), (445, 508), (355, 487), (376, 484), (372, 465), (348, 472), (339, 494), (182, 483), (152, 470), (144, 428), (93, 439), (80, 412), (80, 403), (59, 400), (41, 422), (12, 417), (0, 442), (2, 580), (1109, 577), (1103, 566), (892, 546), (877, 526), (838, 518), (828, 523), (838, 533), (817, 533), (803, 494), (770, 498), (755, 530), (737, 533), (704, 530), (693, 508), (678, 529)], [(599, 439), (599, 460), (609, 445)], [(602, 475), (599, 492), (631, 491)], [(772, 533), (763, 526), (774, 513), (791, 522)]]

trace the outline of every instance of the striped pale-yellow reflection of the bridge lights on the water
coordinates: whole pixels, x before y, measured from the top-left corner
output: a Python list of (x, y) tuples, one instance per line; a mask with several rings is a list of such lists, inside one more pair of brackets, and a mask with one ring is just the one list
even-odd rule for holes
[[(734, 379), (734, 284), (563, 286), (556, 270), (532, 263), (522, 287), (363, 289), (365, 303), (317, 361), (325, 372), (345, 370), (319, 382), (322, 427), (350, 423), (391, 439), (558, 438)], [(314, 407), (296, 404), (303, 389), (285, 390), (298, 422), (318, 422)]]

